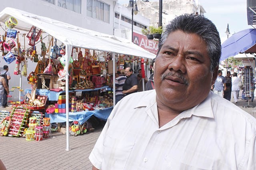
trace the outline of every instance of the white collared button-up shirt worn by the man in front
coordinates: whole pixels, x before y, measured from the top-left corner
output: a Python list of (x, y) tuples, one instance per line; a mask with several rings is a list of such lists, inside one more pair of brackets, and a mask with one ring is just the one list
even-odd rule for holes
[(159, 128), (155, 90), (114, 107), (89, 159), (101, 170), (255, 170), (256, 119), (210, 92)]

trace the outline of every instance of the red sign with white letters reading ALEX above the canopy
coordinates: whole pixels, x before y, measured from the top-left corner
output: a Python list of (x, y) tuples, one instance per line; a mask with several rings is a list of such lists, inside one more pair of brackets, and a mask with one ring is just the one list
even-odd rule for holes
[(133, 32), (133, 42), (150, 53), (156, 54), (158, 51), (158, 41), (148, 40), (146, 36), (136, 32)]

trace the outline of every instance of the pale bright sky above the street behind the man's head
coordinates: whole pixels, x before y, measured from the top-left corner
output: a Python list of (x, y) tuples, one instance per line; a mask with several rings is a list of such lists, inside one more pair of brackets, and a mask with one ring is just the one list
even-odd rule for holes
[[(158, 0), (150, 0), (158, 1)], [(208, 19), (216, 25), (223, 43), (227, 39), (226, 28), (229, 24), (230, 34), (234, 34), (247, 28), (246, 0), (198, 0), (202, 5)], [(163, 0), (164, 2), (164, 0)], [(129, 0), (118, 0), (119, 4), (128, 4)], [(139, 8), (139, 7), (138, 7)], [(231, 36), (229, 35), (229, 37)]]

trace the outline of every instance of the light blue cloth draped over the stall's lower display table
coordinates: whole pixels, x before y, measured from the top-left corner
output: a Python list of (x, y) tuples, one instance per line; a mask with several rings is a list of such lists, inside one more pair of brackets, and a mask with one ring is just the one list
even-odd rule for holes
[[(92, 115), (101, 119), (103, 121), (107, 121), (108, 116), (110, 115), (113, 107), (109, 107), (103, 110), (94, 110), (94, 111), (82, 111), (82, 112), (69, 112), (68, 121), (78, 121), (81, 125), (85, 123)], [(62, 123), (66, 122), (66, 113), (52, 113), (49, 114), (50, 123)]]

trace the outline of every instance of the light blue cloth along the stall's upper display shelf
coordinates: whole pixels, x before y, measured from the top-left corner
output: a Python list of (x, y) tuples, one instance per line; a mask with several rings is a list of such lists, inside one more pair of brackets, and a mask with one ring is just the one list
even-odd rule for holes
[[(108, 86), (103, 86), (103, 87), (99, 87), (99, 88), (95, 88), (95, 89), (70, 90), (68, 92), (71, 93), (71, 92), (80, 92), (80, 91), (95, 91), (95, 90), (100, 90), (100, 89), (105, 89), (105, 88), (108, 88)], [(31, 93), (31, 90), (32, 89), (26, 89), (24, 92), (25, 95), (26, 95), (26, 93)], [(48, 96), (49, 101), (58, 101), (58, 97), (62, 93), (66, 93), (66, 91), (56, 92), (56, 91), (50, 91), (50, 90), (46, 90), (46, 89), (36, 89), (36, 95)]]

